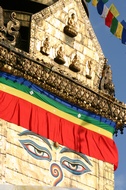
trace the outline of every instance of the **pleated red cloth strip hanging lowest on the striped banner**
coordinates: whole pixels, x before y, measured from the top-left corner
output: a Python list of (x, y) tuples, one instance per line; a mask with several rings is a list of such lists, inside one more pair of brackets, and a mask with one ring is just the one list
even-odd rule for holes
[[(55, 108), (54, 108), (55, 109)], [(87, 130), (21, 98), (0, 91), (0, 118), (93, 158), (118, 165), (112, 139)]]

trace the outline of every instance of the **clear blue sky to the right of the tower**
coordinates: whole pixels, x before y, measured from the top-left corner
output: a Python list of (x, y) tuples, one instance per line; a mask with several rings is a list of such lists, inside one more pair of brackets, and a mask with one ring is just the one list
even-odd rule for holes
[[(111, 4), (114, 4), (120, 13), (117, 20), (126, 21), (126, 0), (109, 0), (106, 6), (109, 8)], [(105, 57), (108, 58), (108, 64), (111, 65), (115, 97), (126, 103), (126, 45), (110, 32), (110, 28), (105, 25), (105, 19), (101, 18), (91, 2), (88, 3), (88, 10), (92, 27)], [(126, 190), (126, 128), (124, 134), (118, 132), (114, 140), (119, 152), (119, 166), (115, 171), (115, 190)]]

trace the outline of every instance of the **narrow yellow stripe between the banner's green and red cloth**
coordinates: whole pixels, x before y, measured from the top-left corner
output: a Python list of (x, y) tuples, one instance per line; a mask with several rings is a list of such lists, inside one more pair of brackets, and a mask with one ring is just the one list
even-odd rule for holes
[(32, 97), (32, 95), (28, 95), (28, 94), (26, 94), (26, 93), (24, 93), (24, 92), (22, 92), (20, 90), (17, 90), (15, 88), (9, 87), (9, 86), (7, 86), (5, 84), (2, 84), (2, 83), (0, 83), (0, 90), (6, 92), (8, 94), (17, 96), (19, 98), (22, 98), (22, 99), (24, 99), (24, 100), (26, 100), (26, 101), (40, 107), (40, 108), (43, 108), (43, 109), (45, 109), (45, 110), (47, 110), (47, 111), (61, 117), (61, 118), (64, 118), (64, 119), (66, 119), (66, 120), (68, 120), (70, 122), (74, 122), (77, 125), (80, 125), (80, 126), (86, 128), (86, 129), (89, 129), (91, 131), (94, 131), (96, 133), (99, 133), (101, 135), (104, 135), (104, 136), (112, 139), (111, 132), (106, 131), (106, 130), (104, 130), (102, 128), (99, 128), (99, 127), (97, 127), (97, 126), (95, 126), (93, 124), (87, 123), (85, 121), (82, 122), (82, 120), (80, 120), (78, 118), (75, 118), (74, 116), (72, 116), (72, 115), (70, 115), (68, 113), (60, 111), (57, 108), (54, 108), (53, 106), (51, 106), (51, 105), (49, 105), (49, 104), (47, 104), (45, 102), (40, 101), (40, 100)]

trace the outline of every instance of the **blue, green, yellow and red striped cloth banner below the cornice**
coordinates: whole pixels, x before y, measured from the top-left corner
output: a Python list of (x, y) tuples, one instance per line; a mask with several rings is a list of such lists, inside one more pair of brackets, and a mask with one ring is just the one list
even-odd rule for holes
[(115, 123), (31, 82), (0, 72), (0, 118), (93, 158), (118, 165)]

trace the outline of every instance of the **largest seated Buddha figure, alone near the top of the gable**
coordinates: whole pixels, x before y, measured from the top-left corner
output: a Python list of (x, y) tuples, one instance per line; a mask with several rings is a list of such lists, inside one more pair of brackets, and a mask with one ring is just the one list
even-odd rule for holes
[(64, 33), (70, 37), (77, 36), (77, 19), (75, 13), (72, 13), (68, 18), (67, 25), (64, 27)]

